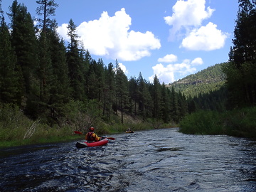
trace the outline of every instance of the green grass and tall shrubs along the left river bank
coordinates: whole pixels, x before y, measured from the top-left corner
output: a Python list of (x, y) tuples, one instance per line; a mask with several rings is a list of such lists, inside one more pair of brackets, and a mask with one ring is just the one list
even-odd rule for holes
[[(87, 130), (83, 124), (87, 122), (85, 115), (80, 112), (73, 114), (72, 122), (58, 127), (57, 124), (52, 127), (43, 122), (43, 119), (33, 121), (28, 119), (17, 107), (6, 105), (0, 108), (0, 148), (9, 146), (23, 146), (28, 144), (42, 144), (53, 142), (66, 142), (74, 139), (83, 139)], [(80, 117), (80, 118), (78, 118)], [(120, 117), (115, 116), (112, 122), (106, 124), (101, 120), (95, 121), (93, 126), (99, 136), (107, 134), (124, 133), (129, 127), (134, 131), (154, 129), (154, 127), (171, 127), (169, 124), (159, 124), (148, 120), (142, 122), (140, 119), (133, 119), (125, 116), (124, 124), (120, 123)], [(74, 131), (80, 131), (83, 135), (74, 134)]]

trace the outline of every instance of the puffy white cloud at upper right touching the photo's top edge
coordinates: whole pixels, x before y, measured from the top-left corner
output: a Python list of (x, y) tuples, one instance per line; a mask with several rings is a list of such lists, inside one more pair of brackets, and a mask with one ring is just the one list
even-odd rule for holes
[(183, 38), (180, 48), (188, 50), (216, 50), (223, 48), (229, 34), (212, 22), (202, 22), (212, 16), (215, 9), (206, 8), (206, 0), (178, 0), (173, 6), (172, 16), (164, 17), (170, 29), (170, 40)]

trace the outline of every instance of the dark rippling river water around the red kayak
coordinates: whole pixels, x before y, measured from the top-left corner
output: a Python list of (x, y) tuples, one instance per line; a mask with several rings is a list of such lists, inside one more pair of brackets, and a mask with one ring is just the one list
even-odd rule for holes
[[(109, 136), (110, 137), (110, 136)], [(256, 142), (174, 129), (0, 149), (0, 191), (256, 191)]]

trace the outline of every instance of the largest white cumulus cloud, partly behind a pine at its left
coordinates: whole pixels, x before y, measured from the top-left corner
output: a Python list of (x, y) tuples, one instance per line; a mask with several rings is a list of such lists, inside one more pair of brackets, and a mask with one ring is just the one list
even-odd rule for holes
[[(77, 33), (91, 54), (112, 59), (139, 60), (161, 47), (160, 40), (151, 31), (130, 31), (131, 25), (132, 18), (122, 8), (112, 17), (104, 11), (98, 20), (80, 23)], [(67, 26), (64, 23), (58, 27), (58, 33), (65, 40), (69, 40)]]

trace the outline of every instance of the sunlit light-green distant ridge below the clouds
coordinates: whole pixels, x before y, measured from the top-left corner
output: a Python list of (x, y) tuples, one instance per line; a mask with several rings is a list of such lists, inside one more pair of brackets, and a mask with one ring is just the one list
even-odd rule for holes
[(166, 86), (170, 89), (174, 87), (176, 92), (181, 91), (186, 97), (195, 97), (219, 90), (225, 83), (225, 74), (221, 69), (224, 64), (220, 63), (210, 66)]

